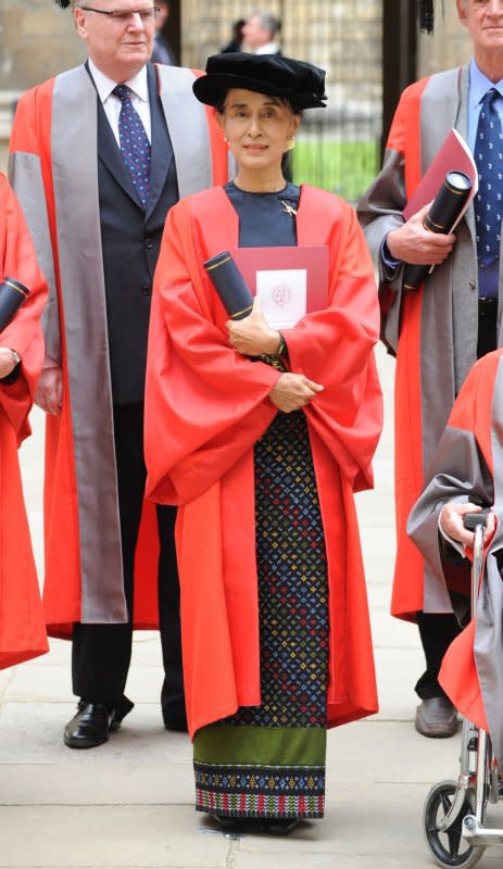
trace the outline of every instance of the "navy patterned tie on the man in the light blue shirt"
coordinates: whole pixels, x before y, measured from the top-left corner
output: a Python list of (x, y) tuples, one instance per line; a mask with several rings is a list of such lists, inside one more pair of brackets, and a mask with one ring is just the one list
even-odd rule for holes
[(482, 266), (500, 255), (501, 215), (503, 213), (503, 134), (494, 109), (498, 90), (491, 88), (482, 100), (475, 142), (479, 189), (475, 198), (477, 256)]

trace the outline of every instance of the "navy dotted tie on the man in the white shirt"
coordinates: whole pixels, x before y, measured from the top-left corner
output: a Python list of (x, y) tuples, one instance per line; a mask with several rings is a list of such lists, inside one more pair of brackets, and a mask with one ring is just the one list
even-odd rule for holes
[(118, 115), (121, 152), (144, 209), (149, 200), (150, 142), (141, 118), (131, 103), (130, 88), (127, 85), (117, 85), (113, 92), (122, 102)]

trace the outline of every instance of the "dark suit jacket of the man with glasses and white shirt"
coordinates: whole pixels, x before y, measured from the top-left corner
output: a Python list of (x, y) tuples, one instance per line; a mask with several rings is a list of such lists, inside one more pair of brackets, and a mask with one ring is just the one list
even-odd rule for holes
[(166, 214), (178, 201), (173, 149), (153, 66), (148, 66), (152, 152), (143, 211), (98, 102), (98, 182), (114, 404), (143, 401), (152, 280)]

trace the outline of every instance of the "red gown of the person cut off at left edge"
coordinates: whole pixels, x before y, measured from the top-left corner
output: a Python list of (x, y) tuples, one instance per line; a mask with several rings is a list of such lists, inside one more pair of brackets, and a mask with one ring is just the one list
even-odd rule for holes
[(27, 301), (0, 333), (17, 350), (20, 375), (0, 385), (0, 668), (48, 651), (42, 605), (23, 499), (17, 448), (30, 433), (28, 413), (43, 361), (40, 315), (47, 287), (21, 207), (0, 174), (0, 270), (29, 288)]

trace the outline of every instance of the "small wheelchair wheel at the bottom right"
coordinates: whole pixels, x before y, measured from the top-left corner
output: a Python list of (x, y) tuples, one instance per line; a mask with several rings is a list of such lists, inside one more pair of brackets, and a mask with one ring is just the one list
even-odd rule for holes
[(437, 829), (438, 822), (445, 817), (452, 806), (455, 791), (456, 783), (451, 780), (441, 781), (431, 789), (425, 803), (424, 832), (438, 866), (442, 869), (453, 867), (470, 869), (479, 861), (486, 849), (469, 845), (461, 834), (463, 818), (474, 811), (470, 797), (465, 799), (460, 815), (449, 830), (442, 833)]

